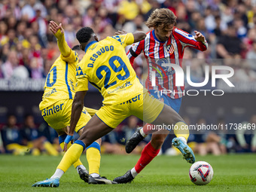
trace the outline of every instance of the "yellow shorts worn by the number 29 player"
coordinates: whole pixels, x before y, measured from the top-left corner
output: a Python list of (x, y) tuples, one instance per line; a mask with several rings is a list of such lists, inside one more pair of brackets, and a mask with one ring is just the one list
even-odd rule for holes
[(106, 125), (115, 128), (126, 117), (135, 115), (147, 123), (152, 123), (163, 110), (163, 102), (154, 99), (147, 90), (132, 99), (118, 105), (104, 105), (96, 115)]

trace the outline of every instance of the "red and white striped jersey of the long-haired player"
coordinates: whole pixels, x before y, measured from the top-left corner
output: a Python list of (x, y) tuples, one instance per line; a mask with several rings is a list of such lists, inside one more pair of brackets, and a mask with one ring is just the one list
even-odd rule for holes
[[(157, 39), (154, 30), (152, 30), (148, 32), (144, 40), (130, 47), (127, 56), (133, 66), (134, 59), (143, 51), (148, 62), (148, 78), (145, 81), (145, 87), (148, 90), (170, 90), (167, 96), (172, 99), (178, 99), (183, 95), (184, 87), (176, 87), (175, 70), (172, 67), (162, 65), (163, 63), (172, 63), (182, 67), (185, 47), (194, 47), (203, 51), (207, 49), (208, 45), (207, 42), (196, 41), (193, 35), (178, 28), (174, 28), (169, 39), (162, 42)], [(156, 86), (154, 87), (151, 82), (152, 72), (155, 73), (156, 77)]]

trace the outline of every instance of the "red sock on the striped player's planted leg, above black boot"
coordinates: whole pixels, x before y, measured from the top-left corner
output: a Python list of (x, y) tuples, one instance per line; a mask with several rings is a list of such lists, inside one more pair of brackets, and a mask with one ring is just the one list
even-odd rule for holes
[(142, 169), (145, 168), (145, 166), (148, 165), (148, 163), (151, 162), (151, 160), (154, 159), (154, 157), (157, 156), (160, 149), (154, 149), (151, 145), (151, 142), (148, 143), (148, 145), (145, 146), (145, 148), (142, 150), (142, 155), (139, 158), (138, 162), (136, 163), (135, 169), (136, 172), (141, 172)]

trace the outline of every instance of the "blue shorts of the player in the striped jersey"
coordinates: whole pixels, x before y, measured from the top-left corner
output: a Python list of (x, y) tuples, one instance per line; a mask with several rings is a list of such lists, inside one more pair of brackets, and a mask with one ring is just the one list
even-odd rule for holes
[(159, 90), (149, 90), (151, 96), (154, 96), (154, 98), (159, 99), (160, 101), (164, 102), (164, 104), (170, 106), (178, 113), (179, 109), (181, 108), (181, 98), (178, 99), (172, 99), (169, 96), (166, 96), (166, 94), (162, 94), (160, 96)]

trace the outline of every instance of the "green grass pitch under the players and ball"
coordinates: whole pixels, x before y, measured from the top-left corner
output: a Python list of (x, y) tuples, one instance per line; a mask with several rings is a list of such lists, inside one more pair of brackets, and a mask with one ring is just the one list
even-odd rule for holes
[[(210, 163), (215, 172), (211, 183), (205, 186), (190, 181), (190, 164), (181, 156), (159, 156), (131, 184), (89, 185), (71, 167), (58, 188), (49, 188), (31, 185), (50, 178), (61, 157), (0, 155), (0, 191), (256, 191), (256, 154), (196, 158)], [(131, 169), (138, 159), (136, 155), (102, 155), (100, 173), (114, 179)], [(86, 162), (84, 154), (81, 160)]]

